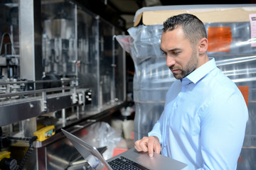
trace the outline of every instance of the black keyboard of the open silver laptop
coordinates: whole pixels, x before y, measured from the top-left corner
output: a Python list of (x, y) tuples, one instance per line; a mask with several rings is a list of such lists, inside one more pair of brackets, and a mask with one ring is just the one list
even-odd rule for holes
[(136, 162), (131, 161), (130, 159), (127, 159), (125, 157), (119, 157), (117, 159), (112, 160), (111, 162), (108, 162), (113, 170), (146, 170), (144, 166), (137, 164)]

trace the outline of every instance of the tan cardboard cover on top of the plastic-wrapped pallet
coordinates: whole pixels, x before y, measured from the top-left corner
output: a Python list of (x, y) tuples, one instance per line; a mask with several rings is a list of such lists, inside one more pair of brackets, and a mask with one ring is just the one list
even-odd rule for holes
[(250, 21), (250, 13), (256, 13), (256, 4), (145, 7), (135, 13), (134, 27), (139, 24), (145, 26), (162, 24), (167, 18), (180, 13), (192, 13), (203, 23), (245, 22)]

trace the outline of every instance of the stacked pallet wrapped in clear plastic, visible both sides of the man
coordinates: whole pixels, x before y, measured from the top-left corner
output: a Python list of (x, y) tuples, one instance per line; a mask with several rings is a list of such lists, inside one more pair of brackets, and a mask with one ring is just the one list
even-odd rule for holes
[[(208, 56), (238, 86), (248, 86), (249, 120), (238, 169), (256, 169), (256, 47), (251, 38), (250, 22), (205, 23), (208, 33)], [(175, 80), (161, 54), (161, 25), (129, 28), (119, 43), (134, 61), (134, 140), (153, 128), (163, 109), (166, 92)]]

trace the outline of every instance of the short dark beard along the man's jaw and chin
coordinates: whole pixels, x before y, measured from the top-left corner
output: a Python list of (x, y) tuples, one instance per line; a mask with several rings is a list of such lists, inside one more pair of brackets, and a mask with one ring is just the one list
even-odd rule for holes
[[(188, 74), (191, 74), (191, 72), (193, 72), (196, 69), (197, 65), (198, 65), (198, 57), (196, 55), (196, 50), (193, 49), (192, 55), (188, 60), (188, 63), (186, 64), (186, 66), (183, 69), (175, 68), (175, 69), (180, 69), (181, 73), (180, 74), (174, 73), (174, 77), (176, 79), (183, 79), (184, 77), (188, 76)], [(170, 67), (170, 69), (173, 69), (173, 67)]]

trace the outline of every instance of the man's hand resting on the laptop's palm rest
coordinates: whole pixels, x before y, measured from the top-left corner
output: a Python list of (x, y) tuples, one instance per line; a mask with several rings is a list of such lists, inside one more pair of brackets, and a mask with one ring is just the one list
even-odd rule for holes
[(158, 137), (143, 137), (142, 140), (137, 140), (135, 142), (135, 149), (138, 152), (149, 152), (149, 157), (153, 157), (153, 152), (160, 154), (161, 145)]

